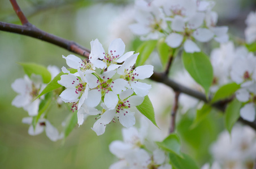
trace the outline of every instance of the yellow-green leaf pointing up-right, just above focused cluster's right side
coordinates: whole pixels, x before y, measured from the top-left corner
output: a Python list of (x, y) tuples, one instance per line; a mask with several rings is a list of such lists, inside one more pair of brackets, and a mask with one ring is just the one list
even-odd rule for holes
[(140, 55), (138, 55), (138, 58), (136, 61), (136, 66), (140, 66), (145, 63), (147, 58), (149, 58), (149, 55), (153, 52), (156, 45), (157, 45), (157, 41), (151, 40), (151, 41), (146, 41), (146, 42), (142, 43), (138, 47), (136, 53), (139, 52)]

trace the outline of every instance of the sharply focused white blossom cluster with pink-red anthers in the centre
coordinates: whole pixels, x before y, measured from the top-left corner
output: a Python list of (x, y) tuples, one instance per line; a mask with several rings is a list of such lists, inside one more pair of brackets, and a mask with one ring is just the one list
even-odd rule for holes
[(135, 117), (130, 108), (140, 105), (151, 88), (150, 84), (138, 82), (138, 79), (149, 78), (153, 66), (133, 69), (138, 54), (133, 54), (133, 51), (124, 54), (122, 39), (114, 39), (107, 52), (98, 39), (90, 45), (89, 62), (75, 55), (63, 56), (67, 65), (77, 72), (72, 74), (62, 68), (68, 74), (62, 75), (58, 81), (66, 87), (60, 97), (65, 103), (72, 103), (72, 111), (77, 110), (79, 125), (88, 115), (99, 115), (92, 128), (97, 135), (102, 135), (106, 124), (115, 122), (115, 118), (124, 127), (133, 126)]

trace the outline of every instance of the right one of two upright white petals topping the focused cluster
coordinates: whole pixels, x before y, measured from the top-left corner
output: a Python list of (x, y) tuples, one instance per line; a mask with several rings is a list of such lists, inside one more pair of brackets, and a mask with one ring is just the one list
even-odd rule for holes
[(109, 55), (113, 54), (113, 56), (122, 56), (124, 54), (124, 49), (125, 45), (122, 39), (114, 39), (109, 46)]

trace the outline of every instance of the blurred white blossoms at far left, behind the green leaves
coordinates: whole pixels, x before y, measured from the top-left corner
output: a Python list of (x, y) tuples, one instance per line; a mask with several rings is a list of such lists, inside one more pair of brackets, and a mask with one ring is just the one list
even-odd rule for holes
[[(51, 79), (53, 79), (60, 71), (57, 66), (48, 66), (47, 69), (51, 73)], [(44, 95), (36, 99), (40, 92), (45, 88), (46, 84), (42, 82), (41, 75), (32, 74), (31, 78), (28, 75), (24, 75), (24, 78), (19, 78), (11, 84), (12, 89), (19, 95), (12, 100), (12, 105), (17, 108), (23, 108), (28, 112), (29, 117), (22, 119), (23, 123), (29, 124), (28, 134), (38, 135), (41, 134), (44, 129), (46, 136), (52, 141), (57, 141), (63, 138), (63, 134), (59, 134), (57, 128), (55, 128), (47, 119), (44, 118), (44, 113), (41, 115), (36, 126), (33, 127), (33, 117), (38, 115), (39, 105)], [(36, 99), (36, 100), (34, 100)]]

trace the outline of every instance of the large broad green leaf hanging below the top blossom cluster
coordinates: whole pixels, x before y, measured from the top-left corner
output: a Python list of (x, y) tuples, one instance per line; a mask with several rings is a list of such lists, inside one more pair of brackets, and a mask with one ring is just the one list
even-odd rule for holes
[(184, 51), (182, 59), (185, 69), (197, 83), (201, 84), (207, 94), (213, 79), (213, 70), (209, 57), (203, 52), (190, 54)]

